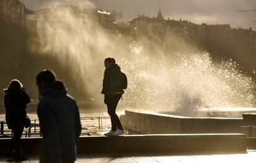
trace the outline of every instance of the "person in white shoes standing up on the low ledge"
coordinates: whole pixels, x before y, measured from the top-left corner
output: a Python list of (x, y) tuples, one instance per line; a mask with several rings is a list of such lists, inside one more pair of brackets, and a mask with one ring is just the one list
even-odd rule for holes
[(111, 130), (105, 136), (118, 136), (124, 134), (124, 129), (116, 114), (118, 101), (122, 97), (122, 73), (121, 68), (116, 64), (114, 58), (105, 59), (105, 73), (103, 79), (103, 89), (101, 93), (105, 95), (104, 102), (108, 107), (108, 114), (111, 119)]

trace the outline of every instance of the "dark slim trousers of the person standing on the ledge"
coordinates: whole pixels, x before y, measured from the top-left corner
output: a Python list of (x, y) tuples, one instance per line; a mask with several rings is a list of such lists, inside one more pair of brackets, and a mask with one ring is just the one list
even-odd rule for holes
[(105, 95), (105, 103), (108, 106), (108, 114), (111, 119), (111, 130), (113, 132), (116, 131), (116, 127), (117, 129), (123, 130), (120, 119), (116, 114), (116, 106), (121, 97), (122, 94)]

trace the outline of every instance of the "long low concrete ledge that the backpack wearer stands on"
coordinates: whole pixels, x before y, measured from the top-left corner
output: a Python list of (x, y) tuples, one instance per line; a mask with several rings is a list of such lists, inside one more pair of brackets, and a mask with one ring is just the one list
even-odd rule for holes
[[(4, 155), (10, 138), (0, 139), (0, 154)], [(25, 154), (39, 154), (42, 138), (22, 138)], [(124, 152), (246, 152), (243, 134), (181, 134), (124, 135), (119, 137), (80, 137), (77, 153)]]

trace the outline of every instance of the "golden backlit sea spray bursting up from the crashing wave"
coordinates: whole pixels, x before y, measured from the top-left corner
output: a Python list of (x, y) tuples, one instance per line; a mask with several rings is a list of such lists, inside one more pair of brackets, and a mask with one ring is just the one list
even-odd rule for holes
[[(75, 5), (93, 6), (89, 1)], [(80, 15), (71, 7), (57, 7), (48, 15), (30, 29), (34, 33), (30, 50), (58, 60), (80, 90), (100, 106), (106, 57), (114, 57), (127, 74), (121, 108), (190, 114), (201, 108), (254, 106), (254, 83), (236, 62), (213, 63), (207, 52), (173, 33), (161, 41), (153, 34), (137, 38), (110, 32), (92, 14)]]

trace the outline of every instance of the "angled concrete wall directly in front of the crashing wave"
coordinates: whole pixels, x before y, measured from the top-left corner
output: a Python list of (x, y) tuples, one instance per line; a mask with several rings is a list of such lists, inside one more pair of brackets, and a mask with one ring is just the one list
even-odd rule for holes
[(182, 117), (125, 111), (120, 117), (128, 134), (241, 133), (242, 118)]

